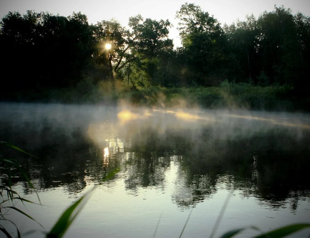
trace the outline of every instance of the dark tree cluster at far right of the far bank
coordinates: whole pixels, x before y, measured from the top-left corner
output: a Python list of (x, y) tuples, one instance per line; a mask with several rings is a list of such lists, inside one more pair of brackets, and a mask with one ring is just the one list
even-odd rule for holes
[(274, 11), (263, 12), (257, 20), (247, 16), (245, 21), (226, 25), (231, 52), (239, 62), (235, 73), (254, 79), (257, 85), (290, 84), (302, 90), (300, 85), (308, 84), (304, 80), (308, 75), (304, 54), (310, 46), (307, 19), (301, 13), (293, 15), (289, 8), (275, 6)]

